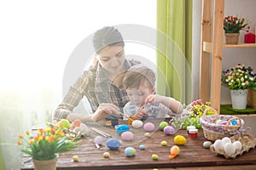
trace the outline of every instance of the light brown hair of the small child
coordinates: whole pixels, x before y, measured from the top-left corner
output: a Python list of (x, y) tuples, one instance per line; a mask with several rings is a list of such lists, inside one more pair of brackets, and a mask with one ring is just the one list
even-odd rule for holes
[(126, 73), (123, 79), (123, 87), (127, 88), (139, 88), (144, 82), (148, 88), (154, 88), (155, 75), (154, 71), (147, 66), (135, 65), (132, 66)]

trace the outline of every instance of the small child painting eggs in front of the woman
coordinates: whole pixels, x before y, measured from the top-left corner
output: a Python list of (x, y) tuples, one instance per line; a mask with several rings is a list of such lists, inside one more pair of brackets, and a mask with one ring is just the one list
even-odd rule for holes
[[(183, 105), (176, 99), (155, 94), (154, 82), (154, 71), (143, 65), (132, 66), (125, 73), (123, 87), (130, 99), (124, 107), (126, 116), (165, 118), (183, 112)], [(143, 105), (143, 110), (134, 115)]]

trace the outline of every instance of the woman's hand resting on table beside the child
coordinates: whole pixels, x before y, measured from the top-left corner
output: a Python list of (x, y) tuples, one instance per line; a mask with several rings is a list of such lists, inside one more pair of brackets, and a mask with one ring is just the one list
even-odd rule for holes
[(109, 103), (102, 103), (92, 115), (91, 119), (94, 122), (99, 122), (102, 118), (107, 117), (111, 113), (119, 115), (119, 107)]

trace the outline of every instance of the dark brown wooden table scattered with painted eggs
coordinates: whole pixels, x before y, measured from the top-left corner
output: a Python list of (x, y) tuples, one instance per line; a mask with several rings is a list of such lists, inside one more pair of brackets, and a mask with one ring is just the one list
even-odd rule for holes
[[(120, 139), (114, 128), (96, 126), (104, 132), (112, 135), (113, 138)], [(160, 129), (151, 133), (151, 137), (144, 137), (142, 128), (133, 129), (131, 132), (135, 134), (133, 141), (123, 141), (119, 150), (109, 150), (105, 145), (108, 140), (104, 138), (104, 145), (98, 150), (96, 149), (93, 139), (98, 135), (94, 132), (90, 136), (83, 138), (78, 149), (62, 152), (57, 161), (57, 169), (256, 169), (256, 150), (252, 149), (237, 156), (236, 159), (226, 159), (224, 156), (216, 156), (211, 150), (204, 149), (202, 144), (207, 139), (204, 138), (202, 130), (199, 130), (198, 138), (190, 139), (187, 131), (179, 130), (174, 135), (166, 135)], [(183, 135), (187, 139), (187, 143), (179, 145), (180, 154), (174, 159), (170, 159), (170, 148), (174, 145), (173, 138), (175, 135)], [(160, 142), (166, 140), (167, 146), (161, 146)], [(144, 144), (145, 150), (139, 150), (139, 145)], [(126, 157), (124, 150), (131, 146), (136, 149), (136, 156)], [(110, 157), (104, 158), (102, 154), (109, 152)], [(159, 160), (153, 161), (152, 154), (157, 154)], [(78, 162), (73, 162), (73, 156), (79, 156)], [(28, 157), (24, 156), (23, 160)], [(23, 163), (21, 169), (33, 169), (32, 161)]]

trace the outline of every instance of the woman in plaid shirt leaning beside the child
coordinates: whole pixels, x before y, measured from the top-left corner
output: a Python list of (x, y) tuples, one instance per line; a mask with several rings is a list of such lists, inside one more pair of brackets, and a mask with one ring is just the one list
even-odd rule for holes
[[(125, 71), (139, 62), (125, 59), (125, 42), (120, 32), (113, 26), (103, 27), (93, 37), (96, 59), (89, 70), (84, 71), (77, 82), (69, 89), (61, 105), (55, 111), (53, 119), (67, 118), (70, 122), (79, 119), (82, 122), (98, 122), (102, 118), (122, 117), (119, 112), (129, 101), (122, 80)], [(86, 96), (93, 114), (76, 114), (73, 108)]]

